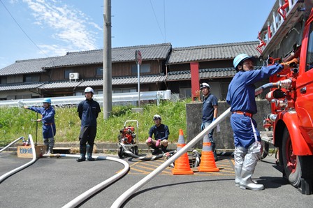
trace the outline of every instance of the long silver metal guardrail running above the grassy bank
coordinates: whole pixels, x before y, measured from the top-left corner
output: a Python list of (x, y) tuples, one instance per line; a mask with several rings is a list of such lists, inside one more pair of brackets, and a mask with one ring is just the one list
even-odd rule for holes
[[(94, 100), (98, 103), (103, 103), (103, 94), (94, 94)], [(159, 101), (170, 100), (170, 90), (165, 91), (143, 91), (140, 92), (140, 101)], [(85, 96), (64, 96), (64, 97), (52, 97), (52, 105), (78, 105), (80, 101), (85, 100)], [(131, 103), (136, 105), (138, 102), (138, 92), (129, 93), (117, 93), (112, 94), (112, 103), (119, 105), (123, 103)], [(10, 101), (0, 101), (0, 107), (22, 107), (23, 105), (42, 105), (43, 98), (32, 98), (32, 99), (20, 99)]]

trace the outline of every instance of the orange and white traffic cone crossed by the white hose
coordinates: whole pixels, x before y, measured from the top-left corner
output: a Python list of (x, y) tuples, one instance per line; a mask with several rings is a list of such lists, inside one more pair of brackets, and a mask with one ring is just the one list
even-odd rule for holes
[[(180, 135), (178, 136), (177, 151), (182, 149), (186, 144), (184, 143), (184, 133), (180, 129)], [(173, 174), (194, 174), (189, 165), (189, 158), (187, 152), (182, 154), (179, 158), (176, 159), (174, 169), (172, 170)]]

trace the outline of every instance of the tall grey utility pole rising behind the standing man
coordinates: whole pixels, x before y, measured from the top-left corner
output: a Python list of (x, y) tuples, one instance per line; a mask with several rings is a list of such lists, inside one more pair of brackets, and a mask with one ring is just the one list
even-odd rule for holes
[(103, 0), (103, 119), (112, 112), (111, 0)]

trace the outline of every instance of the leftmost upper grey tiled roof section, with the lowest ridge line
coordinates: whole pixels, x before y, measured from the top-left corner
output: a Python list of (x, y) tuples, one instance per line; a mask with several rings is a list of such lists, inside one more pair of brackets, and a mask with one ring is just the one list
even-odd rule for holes
[(41, 73), (43, 72), (43, 67), (48, 64), (51, 66), (55, 60), (59, 57), (50, 57), (44, 59), (29, 59), (22, 61), (15, 61), (14, 64), (6, 66), (5, 68), (0, 69), (0, 76), (5, 75), (19, 75), (27, 73)]

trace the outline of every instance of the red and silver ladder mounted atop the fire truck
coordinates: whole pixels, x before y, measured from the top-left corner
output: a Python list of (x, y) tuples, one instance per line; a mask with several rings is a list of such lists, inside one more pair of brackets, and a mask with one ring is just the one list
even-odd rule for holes
[(256, 50), (263, 57), (268, 57), (298, 22), (303, 15), (303, 7), (304, 0), (277, 0), (275, 2), (258, 36), (260, 44)]

